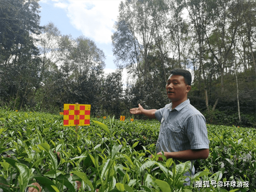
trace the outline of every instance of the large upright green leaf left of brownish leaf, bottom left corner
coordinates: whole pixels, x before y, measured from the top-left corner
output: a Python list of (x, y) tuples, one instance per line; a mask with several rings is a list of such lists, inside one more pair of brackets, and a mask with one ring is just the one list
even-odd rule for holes
[(30, 172), (28, 166), (22, 163), (16, 163), (16, 167), (20, 173), (18, 177), (20, 190), (23, 192), (26, 189), (26, 186), (29, 184)]

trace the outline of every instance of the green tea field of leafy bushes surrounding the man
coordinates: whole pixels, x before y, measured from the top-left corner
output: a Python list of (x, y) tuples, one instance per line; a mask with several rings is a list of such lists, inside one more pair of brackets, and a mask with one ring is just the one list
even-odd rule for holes
[(101, 117), (76, 129), (61, 115), (1, 109), (0, 192), (256, 192), (254, 128), (207, 125), (209, 157), (184, 186), (191, 162), (157, 161), (159, 126)]

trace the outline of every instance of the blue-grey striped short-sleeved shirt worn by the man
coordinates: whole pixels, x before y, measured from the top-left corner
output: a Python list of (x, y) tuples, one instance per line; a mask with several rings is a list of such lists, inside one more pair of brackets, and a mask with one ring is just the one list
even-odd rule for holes
[(189, 99), (174, 109), (172, 103), (167, 104), (157, 110), (155, 116), (161, 122), (157, 153), (209, 148), (206, 120), (202, 113), (190, 105)]

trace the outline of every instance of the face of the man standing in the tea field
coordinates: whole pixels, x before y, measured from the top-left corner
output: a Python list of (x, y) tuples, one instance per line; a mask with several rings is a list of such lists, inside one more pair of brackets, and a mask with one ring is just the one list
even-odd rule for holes
[(179, 75), (171, 74), (166, 83), (167, 96), (172, 102), (185, 101), (190, 88), (184, 77)]

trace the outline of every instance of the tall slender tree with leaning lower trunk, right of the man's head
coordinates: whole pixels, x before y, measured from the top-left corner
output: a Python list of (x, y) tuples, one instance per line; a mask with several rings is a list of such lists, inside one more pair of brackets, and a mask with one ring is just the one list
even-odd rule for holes
[[(216, 3), (206, 1), (206, 10), (209, 12), (210, 23), (204, 31), (209, 50), (218, 63), (221, 73), (221, 94), (224, 93), (224, 69), (227, 67), (227, 59), (238, 27), (241, 25), (244, 10), (242, 1), (221, 0)], [(204, 19), (204, 18), (202, 18)], [(207, 23), (206, 20), (202, 21)], [(212, 111), (218, 104), (219, 97), (213, 105)]]

